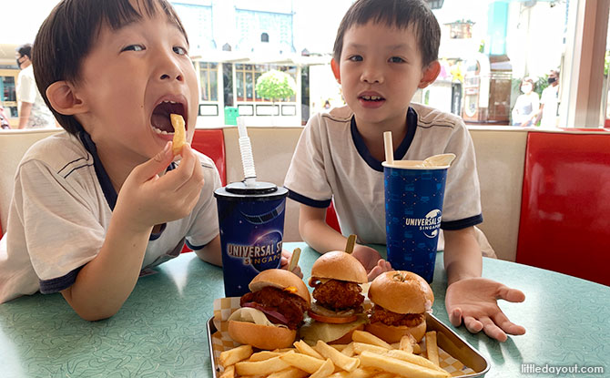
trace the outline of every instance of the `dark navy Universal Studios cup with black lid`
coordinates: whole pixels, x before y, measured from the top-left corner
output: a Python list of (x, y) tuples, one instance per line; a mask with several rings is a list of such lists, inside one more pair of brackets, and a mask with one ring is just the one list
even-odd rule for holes
[(260, 271), (280, 268), (288, 190), (269, 182), (216, 189), (225, 295), (239, 297)]

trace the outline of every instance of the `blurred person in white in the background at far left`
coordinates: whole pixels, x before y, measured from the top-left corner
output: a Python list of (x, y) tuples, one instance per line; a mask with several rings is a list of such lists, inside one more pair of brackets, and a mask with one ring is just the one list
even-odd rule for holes
[(21, 69), (17, 77), (17, 101), (19, 105), (19, 128), (54, 128), (55, 117), (40, 96), (34, 68), (32, 67), (32, 45), (25, 44), (16, 49), (17, 66)]

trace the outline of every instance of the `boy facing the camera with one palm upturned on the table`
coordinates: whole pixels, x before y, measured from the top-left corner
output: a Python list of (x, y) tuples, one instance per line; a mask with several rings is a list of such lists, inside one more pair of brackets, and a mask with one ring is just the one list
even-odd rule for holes
[(524, 301), (521, 291), (481, 278), (474, 225), (483, 221), (473, 142), (460, 117), (412, 104), (418, 88), (440, 72), (441, 29), (422, 0), (358, 0), (341, 21), (331, 62), (347, 107), (312, 117), (301, 135), (285, 186), (300, 202), (300, 234), (322, 252), (346, 238), (325, 222), (332, 200), (341, 231), (357, 234), (353, 254), (370, 279), (391, 269), (365, 243), (385, 244), (383, 132), (391, 131), (394, 159), (422, 160), (454, 153), (442, 214), (445, 297), (451, 322), (506, 340), (524, 328), (509, 322), (496, 299)]

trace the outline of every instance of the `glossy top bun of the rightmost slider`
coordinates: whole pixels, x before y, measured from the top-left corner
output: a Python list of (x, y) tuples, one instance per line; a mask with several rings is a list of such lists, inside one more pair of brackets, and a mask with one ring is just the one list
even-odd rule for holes
[(434, 294), (422, 277), (411, 271), (386, 271), (371, 282), (369, 299), (396, 313), (422, 313), (432, 309)]

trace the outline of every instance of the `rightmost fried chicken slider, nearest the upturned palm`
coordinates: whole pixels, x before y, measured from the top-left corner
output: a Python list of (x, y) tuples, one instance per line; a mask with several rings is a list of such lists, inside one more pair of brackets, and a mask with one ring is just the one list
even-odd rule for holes
[(371, 282), (369, 299), (375, 304), (365, 327), (385, 342), (400, 342), (411, 333), (417, 342), (426, 332), (426, 313), (434, 294), (422, 277), (411, 271), (386, 271)]

